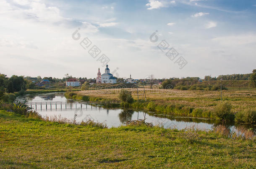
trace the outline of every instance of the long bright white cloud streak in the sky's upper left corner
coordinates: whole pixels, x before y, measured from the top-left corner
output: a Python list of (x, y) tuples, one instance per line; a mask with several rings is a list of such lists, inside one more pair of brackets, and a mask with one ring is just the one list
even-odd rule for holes
[[(14, 0), (13, 3), (7, 3), (0, 0), (1, 15), (4, 19), (21, 24), (43, 23), (51, 26), (62, 26), (65, 28), (81, 27), (87, 33), (95, 33), (98, 28), (91, 23), (65, 18), (60, 14), (60, 9), (55, 6), (49, 6), (41, 3), (39, 0)], [(3, 5), (2, 5), (3, 4)], [(26, 21), (26, 22), (25, 22)]]

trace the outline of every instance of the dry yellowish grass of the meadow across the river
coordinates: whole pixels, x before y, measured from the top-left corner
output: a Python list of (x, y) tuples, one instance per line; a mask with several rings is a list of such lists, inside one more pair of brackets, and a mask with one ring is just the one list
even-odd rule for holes
[[(108, 98), (117, 100), (118, 93), (121, 89), (101, 89), (76, 91), (79, 95), (93, 96), (99, 98)], [(132, 96), (137, 100), (137, 89), (127, 88), (132, 92)], [(220, 91), (181, 91), (175, 89), (159, 89), (149, 88), (145, 86), (146, 98), (149, 101), (164, 104), (183, 104), (194, 108), (203, 108), (212, 110), (220, 100)], [(143, 98), (144, 89), (138, 88), (139, 99)], [(228, 90), (222, 91), (222, 100), (232, 104), (233, 111), (240, 111), (245, 108), (255, 108), (256, 106), (256, 90)]]

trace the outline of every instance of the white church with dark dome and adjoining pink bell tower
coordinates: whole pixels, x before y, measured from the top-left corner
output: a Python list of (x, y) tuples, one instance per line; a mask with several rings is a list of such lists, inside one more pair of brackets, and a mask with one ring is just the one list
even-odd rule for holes
[(102, 75), (100, 71), (98, 71), (97, 83), (116, 83), (116, 78), (110, 73), (108, 65), (106, 65), (105, 73), (103, 73)]

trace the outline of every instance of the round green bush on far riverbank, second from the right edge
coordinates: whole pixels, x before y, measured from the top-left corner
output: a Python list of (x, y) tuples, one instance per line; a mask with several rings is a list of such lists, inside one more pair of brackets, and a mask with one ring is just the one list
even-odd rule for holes
[(227, 101), (219, 103), (215, 108), (214, 115), (217, 120), (232, 121), (234, 120), (234, 114), (231, 112), (231, 104)]

